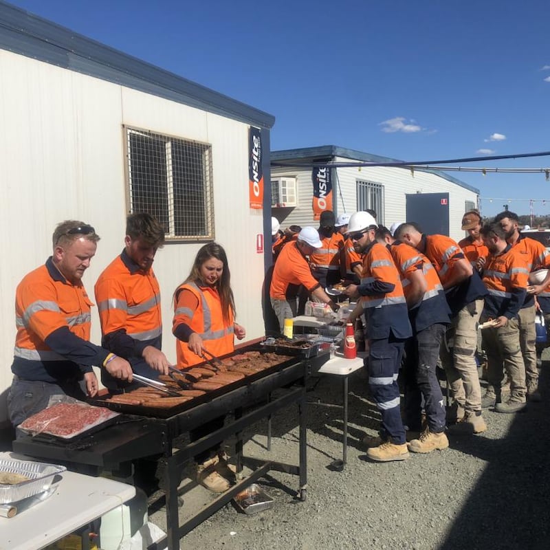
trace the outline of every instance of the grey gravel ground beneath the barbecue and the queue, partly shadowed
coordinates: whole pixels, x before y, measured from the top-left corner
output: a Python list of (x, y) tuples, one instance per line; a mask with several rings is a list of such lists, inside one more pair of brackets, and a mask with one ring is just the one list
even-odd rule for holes
[[(544, 359), (550, 360), (550, 353)], [(231, 505), (181, 540), (181, 548), (215, 549), (549, 549), (550, 362), (541, 372), (542, 403), (525, 412), (484, 412), (487, 432), (450, 436), (450, 448), (412, 454), (401, 462), (373, 463), (360, 439), (375, 434), (380, 416), (369, 401), (366, 375), (349, 381), (348, 463), (342, 458), (342, 388), (322, 377), (308, 393), (305, 502), (298, 478), (269, 472), (261, 486), (272, 509), (253, 516)], [(319, 402), (320, 401), (320, 402)], [(296, 407), (274, 417), (272, 453), (265, 450), (266, 423), (248, 433), (245, 454), (298, 463)], [(189, 486), (194, 485), (188, 480)], [(203, 487), (184, 495), (183, 518), (208, 502)], [(166, 531), (164, 509), (150, 520)]]

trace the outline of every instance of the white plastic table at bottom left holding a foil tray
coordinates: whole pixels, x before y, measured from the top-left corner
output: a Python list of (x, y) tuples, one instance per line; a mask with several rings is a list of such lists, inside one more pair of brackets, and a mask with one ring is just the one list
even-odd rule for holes
[[(32, 460), (11, 452), (2, 459)], [(0, 550), (41, 550), (135, 496), (135, 487), (63, 472), (55, 493), (13, 518), (0, 518)]]

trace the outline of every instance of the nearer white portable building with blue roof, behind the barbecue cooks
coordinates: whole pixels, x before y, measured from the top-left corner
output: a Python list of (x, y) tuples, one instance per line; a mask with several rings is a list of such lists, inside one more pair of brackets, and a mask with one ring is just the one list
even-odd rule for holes
[[(272, 115), (1, 1), (0, 74), (0, 425), (8, 418), (15, 289), (50, 256), (65, 219), (90, 223), (102, 237), (83, 279), (91, 297), (122, 250), (126, 214), (163, 221), (167, 243), (155, 272), (168, 359), (170, 298), (214, 239), (228, 253), (237, 319), (248, 338), (263, 334), (270, 197), (254, 194), (262, 183), (254, 180), (261, 168), (269, 178)], [(99, 343), (96, 311), (92, 327)]]

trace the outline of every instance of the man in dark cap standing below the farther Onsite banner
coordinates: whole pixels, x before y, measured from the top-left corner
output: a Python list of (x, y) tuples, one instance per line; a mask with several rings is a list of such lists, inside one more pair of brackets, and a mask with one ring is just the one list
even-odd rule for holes
[(309, 256), (311, 272), (322, 288), (340, 283), (346, 275), (344, 237), (334, 227), (335, 223), (331, 210), (321, 212), (318, 229), (321, 247)]

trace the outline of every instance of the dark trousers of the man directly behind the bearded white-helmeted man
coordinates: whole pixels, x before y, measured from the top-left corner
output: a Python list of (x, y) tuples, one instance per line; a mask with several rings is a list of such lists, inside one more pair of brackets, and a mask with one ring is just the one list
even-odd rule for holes
[(434, 323), (415, 333), (405, 344), (403, 377), (405, 419), (409, 430), (421, 430), (422, 397), (430, 432), (445, 430), (445, 404), (437, 380), (436, 364), (446, 329), (446, 325)]

